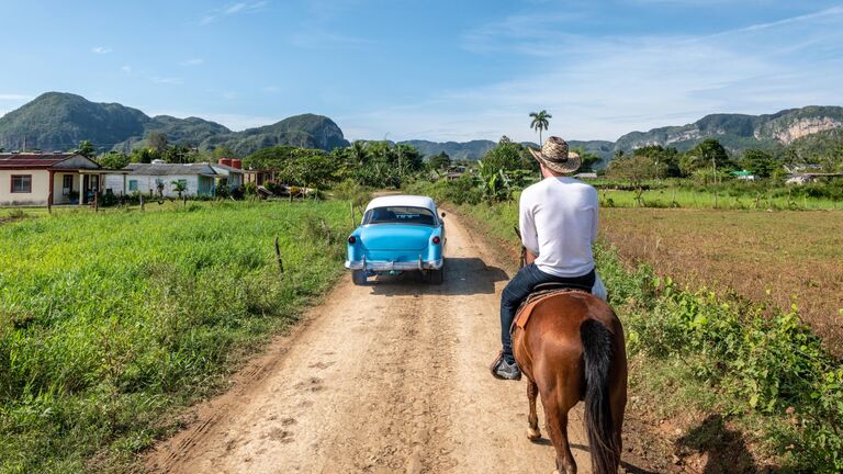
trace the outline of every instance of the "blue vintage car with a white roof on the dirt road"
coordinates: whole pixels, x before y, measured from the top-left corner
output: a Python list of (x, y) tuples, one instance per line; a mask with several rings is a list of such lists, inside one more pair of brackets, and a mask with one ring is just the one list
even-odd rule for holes
[(358, 285), (375, 274), (405, 271), (420, 271), (428, 282), (439, 284), (445, 242), (445, 223), (430, 198), (375, 198), (366, 206), (360, 227), (348, 236), (346, 268)]

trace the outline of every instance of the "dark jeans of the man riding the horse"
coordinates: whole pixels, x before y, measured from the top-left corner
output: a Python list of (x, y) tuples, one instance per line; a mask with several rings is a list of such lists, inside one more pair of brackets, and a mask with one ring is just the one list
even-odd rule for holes
[(594, 286), (594, 270), (591, 272), (575, 278), (562, 278), (552, 274), (544, 273), (539, 270), (535, 263), (530, 263), (522, 269), (518, 270), (518, 273), (509, 280), (506, 284), (503, 294), (501, 295), (501, 342), (504, 346), (504, 358), (508, 363), (513, 363), (515, 358), (513, 357), (513, 336), (509, 332), (509, 328), (513, 326), (515, 319), (515, 313), (518, 311), (518, 306), (527, 296), (532, 293), (532, 289), (540, 283), (569, 283), (573, 287), (581, 287), (583, 290), (592, 291)]

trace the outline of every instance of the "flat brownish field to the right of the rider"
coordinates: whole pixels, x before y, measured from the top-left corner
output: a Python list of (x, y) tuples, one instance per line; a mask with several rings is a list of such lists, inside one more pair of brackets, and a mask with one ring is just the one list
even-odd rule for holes
[(843, 212), (603, 208), (600, 218), (602, 237), (629, 264), (779, 308), (796, 303), (843, 350)]

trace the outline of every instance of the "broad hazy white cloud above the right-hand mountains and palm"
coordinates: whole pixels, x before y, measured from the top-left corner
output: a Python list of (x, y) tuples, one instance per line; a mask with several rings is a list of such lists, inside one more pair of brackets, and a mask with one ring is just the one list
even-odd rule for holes
[(550, 133), (614, 140), (709, 113), (843, 103), (841, 8), (699, 36), (580, 36), (533, 20), (514, 16), (465, 35), (469, 52), (527, 63), (508, 79), (337, 119), (356, 124), (353, 138), (535, 140), (528, 113), (546, 109)]

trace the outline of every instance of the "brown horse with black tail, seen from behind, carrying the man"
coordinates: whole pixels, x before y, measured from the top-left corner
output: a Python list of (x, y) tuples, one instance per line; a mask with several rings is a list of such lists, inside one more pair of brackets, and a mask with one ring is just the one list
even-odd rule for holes
[(541, 438), (536, 415), (540, 394), (557, 472), (576, 474), (567, 413), (585, 400), (592, 471), (617, 473), (627, 405), (627, 351), (623, 328), (611, 307), (578, 291), (548, 296), (537, 303), (524, 329), (515, 328), (513, 352), (527, 376), (527, 437)]

